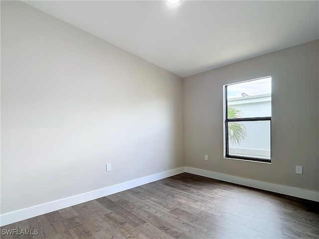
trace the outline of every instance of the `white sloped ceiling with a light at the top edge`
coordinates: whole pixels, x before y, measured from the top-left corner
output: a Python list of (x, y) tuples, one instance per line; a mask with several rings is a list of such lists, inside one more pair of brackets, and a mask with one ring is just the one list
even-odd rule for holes
[(319, 1), (24, 1), (180, 77), (319, 39)]

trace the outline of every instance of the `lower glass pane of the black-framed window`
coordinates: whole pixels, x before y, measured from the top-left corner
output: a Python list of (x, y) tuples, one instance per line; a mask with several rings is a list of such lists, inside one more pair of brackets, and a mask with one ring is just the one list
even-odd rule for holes
[(270, 120), (228, 122), (228, 154), (270, 159)]

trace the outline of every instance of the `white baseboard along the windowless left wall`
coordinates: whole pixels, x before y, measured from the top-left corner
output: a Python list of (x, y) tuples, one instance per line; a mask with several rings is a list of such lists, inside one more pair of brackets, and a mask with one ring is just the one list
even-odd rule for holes
[(57, 201), (37, 205), (30, 208), (25, 208), (11, 213), (0, 215), (0, 226), (5, 226), (11, 223), (16, 223), (21, 220), (33, 218), (42, 214), (50, 213), (63, 208), (71, 207), (80, 203), (88, 202), (97, 198), (105, 197), (114, 193), (122, 192), (131, 188), (135, 188), (147, 183), (151, 183), (163, 178), (167, 178), (185, 171), (184, 167), (175, 168), (165, 172), (153, 174), (143, 178), (138, 178), (132, 181), (120, 183), (110, 187), (98, 189), (92, 192), (75, 195), (69, 198), (60, 199)]

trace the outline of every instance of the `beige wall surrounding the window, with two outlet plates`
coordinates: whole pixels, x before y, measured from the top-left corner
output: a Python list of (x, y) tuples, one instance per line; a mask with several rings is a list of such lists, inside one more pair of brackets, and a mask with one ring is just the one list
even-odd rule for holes
[[(185, 166), (319, 191), (318, 45), (314, 41), (184, 78)], [(272, 76), (272, 163), (224, 159), (222, 86), (264, 76)], [(296, 174), (296, 165), (304, 174)]]

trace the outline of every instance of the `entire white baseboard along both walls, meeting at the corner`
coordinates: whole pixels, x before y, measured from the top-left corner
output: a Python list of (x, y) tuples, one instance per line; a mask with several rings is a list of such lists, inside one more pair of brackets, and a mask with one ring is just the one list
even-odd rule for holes
[(88, 202), (97, 198), (105, 197), (114, 193), (122, 192), (124, 190), (135, 188), (183, 172), (319, 202), (319, 192), (266, 183), (253, 179), (241, 178), (198, 168), (180, 167), (165, 172), (153, 174), (150, 176), (146, 176), (143, 178), (138, 178), (132, 181), (113, 185), (110, 187), (98, 189), (92, 192), (75, 195), (69, 198), (60, 199), (57, 201), (37, 205), (30, 208), (25, 208), (11, 213), (2, 214), (0, 215), (0, 226), (2, 227), (11, 223), (19, 222), (21, 220), (33, 218), (42, 214), (50, 213), (80, 203)]

